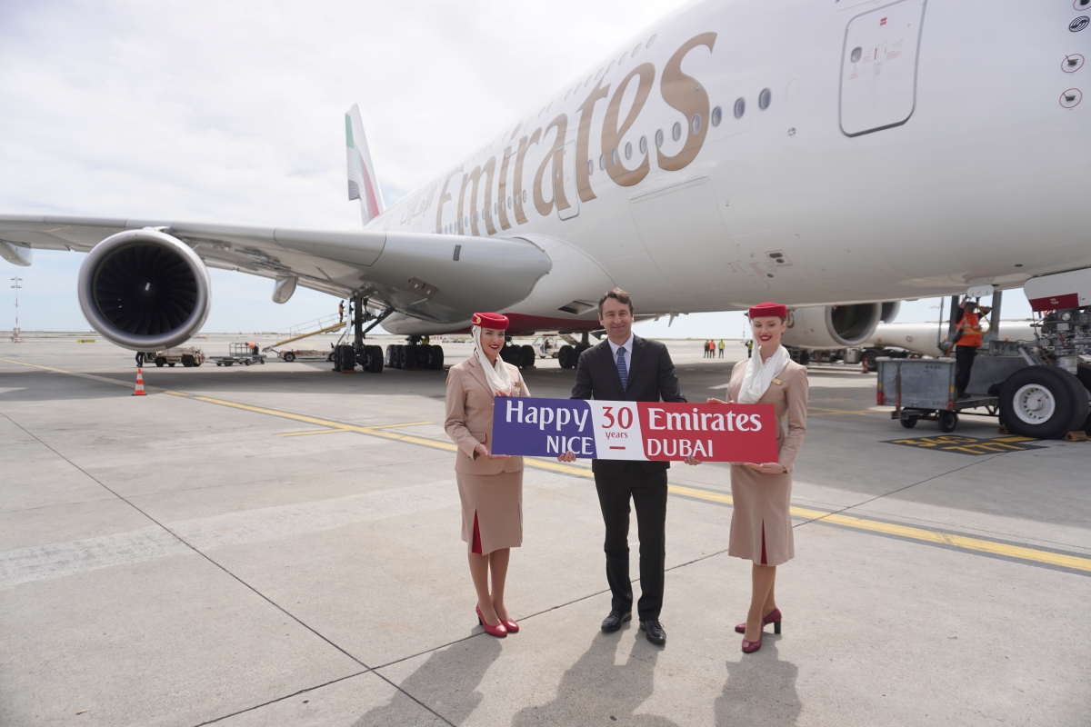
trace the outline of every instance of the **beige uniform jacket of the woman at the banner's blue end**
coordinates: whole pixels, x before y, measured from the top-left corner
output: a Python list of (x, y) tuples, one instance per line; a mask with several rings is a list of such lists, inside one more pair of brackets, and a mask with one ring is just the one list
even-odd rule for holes
[[(515, 386), (514, 396), (529, 397), (527, 384), (519, 375), (519, 369), (509, 363), (507, 374)], [(455, 472), (464, 474), (499, 474), (501, 472), (518, 472), (523, 469), (521, 457), (509, 457), (506, 460), (491, 460), (473, 451), (478, 443), (492, 451), (492, 409), (493, 396), (484, 372), (470, 356), (455, 364), (447, 373), (447, 416), (443, 423), (447, 436), (458, 446), (455, 456)]]

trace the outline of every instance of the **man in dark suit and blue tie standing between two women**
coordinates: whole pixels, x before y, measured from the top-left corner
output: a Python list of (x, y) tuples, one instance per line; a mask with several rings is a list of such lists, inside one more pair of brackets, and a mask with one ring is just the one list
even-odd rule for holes
[[(633, 301), (614, 288), (599, 299), (599, 323), (607, 340), (579, 356), (573, 399), (603, 401), (685, 401), (667, 347), (633, 335)], [(573, 462), (576, 456), (559, 458)], [(687, 460), (688, 461), (688, 460)], [(691, 464), (695, 461), (688, 461)], [(616, 631), (633, 618), (633, 584), (628, 580), (628, 501), (636, 506), (640, 534), (640, 630), (654, 644), (667, 643), (659, 622), (663, 605), (666, 560), (667, 469), (670, 462), (594, 460), (595, 487), (607, 526), (607, 581), (613, 593), (603, 631)]]

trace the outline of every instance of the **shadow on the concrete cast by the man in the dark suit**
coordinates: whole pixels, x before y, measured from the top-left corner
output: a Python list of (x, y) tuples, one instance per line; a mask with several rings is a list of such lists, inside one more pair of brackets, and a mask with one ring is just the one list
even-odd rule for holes
[(596, 633), (590, 647), (561, 677), (556, 698), (529, 706), (512, 719), (513, 727), (537, 725), (619, 725), (676, 727), (667, 717), (636, 714), (655, 689), (659, 649), (637, 632), (624, 664), (614, 664), (618, 640), (634, 639), (626, 628), (616, 634)]

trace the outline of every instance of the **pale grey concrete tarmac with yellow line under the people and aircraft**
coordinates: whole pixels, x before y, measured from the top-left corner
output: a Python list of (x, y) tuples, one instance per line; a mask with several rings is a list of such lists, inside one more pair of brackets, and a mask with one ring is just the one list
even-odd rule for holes
[[(783, 632), (753, 655), (727, 465), (670, 470), (659, 647), (599, 630), (588, 463), (528, 460), (497, 640), (442, 372), (153, 366), (139, 398), (131, 353), (75, 339), (0, 343), (0, 725), (1091, 724), (1091, 444), (903, 429), (873, 375), (812, 367)], [(691, 400), (745, 358), (668, 344)]]

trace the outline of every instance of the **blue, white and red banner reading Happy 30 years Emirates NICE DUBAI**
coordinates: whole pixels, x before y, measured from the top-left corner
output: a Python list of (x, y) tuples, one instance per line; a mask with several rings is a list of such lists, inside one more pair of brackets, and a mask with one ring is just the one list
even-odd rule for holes
[(776, 462), (772, 404), (691, 404), (496, 397), (494, 455)]

